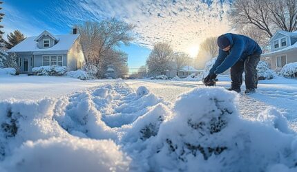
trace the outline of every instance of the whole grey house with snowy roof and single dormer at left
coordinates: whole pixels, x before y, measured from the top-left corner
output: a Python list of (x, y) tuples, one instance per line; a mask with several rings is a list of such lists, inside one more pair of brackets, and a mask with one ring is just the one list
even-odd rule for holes
[(79, 34), (53, 35), (44, 31), (39, 36), (28, 37), (8, 50), (16, 53), (21, 74), (32, 73), (33, 67), (59, 65), (68, 71), (80, 69), (84, 64)]

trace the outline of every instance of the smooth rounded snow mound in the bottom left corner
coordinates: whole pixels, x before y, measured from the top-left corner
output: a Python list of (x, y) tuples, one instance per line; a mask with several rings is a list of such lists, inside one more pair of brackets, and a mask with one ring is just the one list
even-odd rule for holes
[(112, 140), (50, 138), (25, 142), (2, 164), (7, 171), (128, 171), (131, 159)]

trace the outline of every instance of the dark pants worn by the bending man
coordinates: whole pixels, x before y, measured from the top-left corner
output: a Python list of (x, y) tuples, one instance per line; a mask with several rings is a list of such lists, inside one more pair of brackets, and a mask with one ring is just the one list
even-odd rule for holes
[(242, 85), (242, 73), (245, 71), (246, 89), (256, 89), (258, 85), (257, 65), (260, 61), (259, 54), (247, 56), (245, 61), (238, 61), (231, 67), (231, 87), (240, 89)]

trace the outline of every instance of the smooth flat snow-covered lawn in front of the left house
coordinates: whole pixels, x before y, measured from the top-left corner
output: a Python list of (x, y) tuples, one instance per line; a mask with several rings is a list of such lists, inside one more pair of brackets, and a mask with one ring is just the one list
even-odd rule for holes
[(113, 80), (79, 80), (55, 76), (12, 76), (0, 74), (0, 100), (15, 98), (38, 100), (44, 97), (59, 98), (83, 89), (98, 87)]

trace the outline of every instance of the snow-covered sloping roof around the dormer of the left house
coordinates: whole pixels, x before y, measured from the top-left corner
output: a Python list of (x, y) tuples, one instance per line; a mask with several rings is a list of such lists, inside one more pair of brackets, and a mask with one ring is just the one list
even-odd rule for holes
[[(39, 35), (40, 36), (40, 35)], [(21, 43), (12, 47), (8, 52), (55, 52), (55, 51), (68, 51), (73, 46), (73, 43), (77, 40), (79, 34), (64, 34), (55, 35), (58, 43), (50, 48), (39, 48), (35, 39), (38, 36), (31, 36), (21, 41)]]

